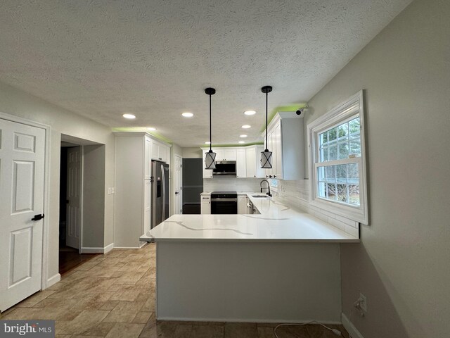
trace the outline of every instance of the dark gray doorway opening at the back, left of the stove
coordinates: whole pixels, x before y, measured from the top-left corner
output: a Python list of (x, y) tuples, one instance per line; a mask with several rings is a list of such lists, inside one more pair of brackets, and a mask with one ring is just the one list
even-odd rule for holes
[(183, 213), (200, 214), (203, 192), (203, 159), (183, 158)]

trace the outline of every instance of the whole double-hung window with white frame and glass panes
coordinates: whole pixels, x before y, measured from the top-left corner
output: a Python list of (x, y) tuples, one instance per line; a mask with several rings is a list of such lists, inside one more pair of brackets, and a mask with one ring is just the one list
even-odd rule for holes
[(368, 224), (362, 91), (308, 125), (311, 204)]

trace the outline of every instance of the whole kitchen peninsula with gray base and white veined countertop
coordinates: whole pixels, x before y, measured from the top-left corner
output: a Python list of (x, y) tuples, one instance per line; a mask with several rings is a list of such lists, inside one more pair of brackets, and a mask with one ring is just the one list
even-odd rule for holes
[(160, 320), (340, 323), (339, 243), (359, 238), (273, 199), (258, 215), (173, 215), (157, 242)]

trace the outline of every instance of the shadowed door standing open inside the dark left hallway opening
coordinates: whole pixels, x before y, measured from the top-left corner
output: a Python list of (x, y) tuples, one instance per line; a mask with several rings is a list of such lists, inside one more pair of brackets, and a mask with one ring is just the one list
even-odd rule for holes
[(82, 205), (82, 148), (68, 148), (68, 187), (66, 204), (65, 244), (79, 249)]

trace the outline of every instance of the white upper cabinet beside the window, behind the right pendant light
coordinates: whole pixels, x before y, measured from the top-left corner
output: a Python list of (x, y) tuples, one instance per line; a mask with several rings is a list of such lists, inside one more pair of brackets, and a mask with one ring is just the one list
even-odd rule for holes
[(295, 112), (275, 115), (267, 128), (267, 149), (272, 151), (272, 168), (265, 170), (267, 178), (304, 179), (303, 135), (303, 118)]

